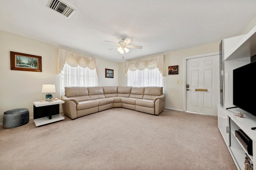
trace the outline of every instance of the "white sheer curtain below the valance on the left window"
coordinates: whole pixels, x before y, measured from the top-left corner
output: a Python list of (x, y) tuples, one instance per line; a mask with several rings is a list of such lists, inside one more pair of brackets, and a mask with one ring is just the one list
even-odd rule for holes
[(79, 65), (72, 67), (65, 64), (60, 74), (60, 87), (64, 92), (64, 87), (71, 86), (98, 86), (96, 69), (91, 70), (88, 67), (83, 68)]

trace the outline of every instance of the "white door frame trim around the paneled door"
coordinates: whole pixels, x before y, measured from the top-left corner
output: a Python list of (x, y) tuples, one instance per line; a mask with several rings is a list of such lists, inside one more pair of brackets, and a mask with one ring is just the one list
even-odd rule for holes
[[(183, 71), (184, 71), (184, 76), (183, 76), (183, 111), (186, 112), (186, 78), (187, 78), (187, 59), (193, 59), (193, 58), (200, 58), (200, 57), (209, 57), (212, 55), (221, 55), (222, 52), (215, 52), (215, 53), (207, 53), (207, 54), (201, 54), (201, 55), (194, 55), (190, 57), (184, 57), (183, 58)], [(219, 75), (220, 76), (220, 75)], [(218, 79), (219, 80), (219, 79)], [(220, 87), (219, 87), (220, 88)], [(219, 101), (217, 102), (219, 103)]]

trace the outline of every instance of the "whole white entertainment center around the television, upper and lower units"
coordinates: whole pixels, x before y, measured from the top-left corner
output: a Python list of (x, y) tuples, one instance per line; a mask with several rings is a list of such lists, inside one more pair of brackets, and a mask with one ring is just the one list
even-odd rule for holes
[[(227, 109), (233, 105), (233, 69), (250, 63), (250, 57), (256, 54), (256, 26), (248, 33), (242, 36), (222, 40), (222, 85), (220, 85), (221, 100), (223, 105), (218, 105), (218, 128), (228, 147), (228, 150), (238, 169), (244, 170), (244, 161), (246, 154), (251, 159), (250, 162), (255, 164), (253, 169), (256, 170), (256, 116), (247, 113), (239, 108)], [(255, 68), (256, 69), (256, 68)], [(250, 74), (250, 73), (248, 73)], [(253, 80), (248, 80), (253, 81)], [(246, 83), (246, 82), (241, 82)], [(250, 93), (254, 89), (241, 89), (245, 93)], [(249, 97), (249, 94), (248, 94)], [(252, 100), (255, 100), (252, 98)], [(242, 113), (244, 117), (236, 116)], [(252, 140), (252, 155), (235, 135), (235, 130), (243, 130)]]

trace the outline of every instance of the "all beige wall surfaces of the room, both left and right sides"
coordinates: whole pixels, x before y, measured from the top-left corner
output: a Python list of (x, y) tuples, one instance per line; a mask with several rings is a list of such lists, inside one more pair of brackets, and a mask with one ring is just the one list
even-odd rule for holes
[[(256, 18), (246, 26), (241, 34), (248, 33), (256, 25)], [(28, 108), (33, 117), (33, 101), (44, 99), (41, 93), (42, 84), (55, 84), (56, 93), (53, 97), (60, 98), (59, 79), (56, 73), (56, 54), (58, 46), (25, 38), (0, 30), (0, 124), (4, 111), (16, 108)], [(164, 93), (168, 109), (183, 110), (183, 87), (185, 57), (214, 53), (219, 51), (220, 42), (201, 45), (188, 49), (172, 51), (165, 54), (166, 77), (164, 77)], [(16, 71), (10, 69), (10, 51), (42, 56), (42, 72)], [(149, 56), (153, 57), (153, 56)], [(115, 63), (96, 57), (99, 86), (126, 86), (125, 62)], [(178, 75), (168, 75), (168, 66), (179, 65)], [(105, 78), (105, 68), (114, 69), (114, 78)], [(177, 84), (180, 80), (181, 84)]]

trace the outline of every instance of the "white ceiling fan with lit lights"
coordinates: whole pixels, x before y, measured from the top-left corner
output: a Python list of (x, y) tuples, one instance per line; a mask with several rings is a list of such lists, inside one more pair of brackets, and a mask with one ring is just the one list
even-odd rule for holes
[[(124, 51), (126, 53), (128, 53), (129, 49), (128, 48), (137, 48), (137, 49), (142, 49), (142, 46), (138, 46), (138, 45), (128, 45), (130, 42), (132, 42), (132, 39), (130, 38), (126, 38), (125, 36), (121, 36), (122, 40), (119, 41), (118, 43), (114, 43), (114, 42), (111, 42), (111, 43), (114, 43), (118, 46), (116, 47), (113, 47), (113, 48), (110, 48), (109, 50), (111, 49), (116, 49), (117, 48), (117, 51), (120, 52), (121, 54), (124, 54)], [(110, 41), (105, 41), (105, 42), (110, 42)]]

